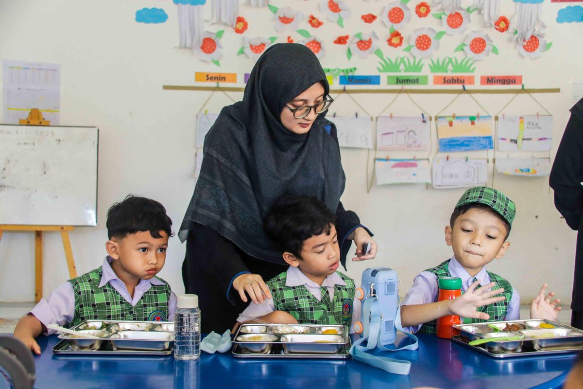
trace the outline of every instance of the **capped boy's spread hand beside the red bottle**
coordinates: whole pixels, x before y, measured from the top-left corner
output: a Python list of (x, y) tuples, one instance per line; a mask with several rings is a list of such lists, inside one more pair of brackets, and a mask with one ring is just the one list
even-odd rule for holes
[[(453, 300), (448, 300), (448, 309), (450, 314), (458, 315), (461, 317), (488, 320), (490, 315), (484, 312), (476, 311), (481, 306), (493, 304), (504, 300), (504, 296), (496, 296), (502, 292), (504, 289), (488, 290), (494, 285), (494, 282), (490, 282), (488, 285), (484, 285), (478, 289), (476, 287), (480, 284), (480, 281), (476, 281), (469, 286), (463, 295), (456, 297)], [(444, 315), (446, 316), (446, 315)]]

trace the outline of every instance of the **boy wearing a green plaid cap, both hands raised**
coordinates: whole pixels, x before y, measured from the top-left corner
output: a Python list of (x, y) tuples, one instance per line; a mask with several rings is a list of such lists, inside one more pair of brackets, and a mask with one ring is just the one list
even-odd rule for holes
[[(445, 243), (453, 248), (454, 256), (415, 277), (402, 303), (403, 327), (435, 334), (437, 318), (448, 315), (465, 318), (464, 323), (518, 320), (518, 291), (501, 276), (486, 271), (487, 264), (508, 250), (515, 215), (514, 202), (503, 193), (488, 187), (468, 189), (445, 227)], [(463, 294), (437, 302), (437, 279), (449, 276), (462, 279)], [(561, 309), (556, 307), (560, 300), (553, 300), (553, 292), (545, 297), (546, 287), (545, 283), (532, 301), (533, 319), (556, 320)]]

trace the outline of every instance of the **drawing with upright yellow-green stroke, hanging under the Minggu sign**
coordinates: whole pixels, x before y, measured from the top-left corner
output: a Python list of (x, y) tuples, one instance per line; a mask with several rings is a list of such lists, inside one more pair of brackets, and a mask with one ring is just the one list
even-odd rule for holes
[(498, 118), (498, 150), (546, 151), (553, 145), (550, 115), (504, 115)]

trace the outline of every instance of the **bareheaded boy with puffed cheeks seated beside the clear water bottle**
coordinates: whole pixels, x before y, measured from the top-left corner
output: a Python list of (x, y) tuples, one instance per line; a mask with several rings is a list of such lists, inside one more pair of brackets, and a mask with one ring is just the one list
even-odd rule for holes
[(57, 323), (85, 320), (172, 321), (176, 296), (156, 274), (164, 266), (172, 220), (159, 202), (129, 195), (107, 212), (108, 256), (103, 265), (73, 278), (42, 299), (23, 318), (14, 336), (40, 354), (34, 338), (54, 334)]

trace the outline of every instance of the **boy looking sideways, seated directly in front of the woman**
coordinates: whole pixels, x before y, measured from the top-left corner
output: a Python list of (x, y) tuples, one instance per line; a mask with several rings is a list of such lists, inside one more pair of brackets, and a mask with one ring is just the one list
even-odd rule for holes
[(265, 232), (290, 265), (267, 282), (272, 298), (251, 303), (237, 318), (282, 324), (344, 324), (353, 330), (360, 315), (354, 281), (336, 271), (340, 248), (336, 215), (311, 197), (284, 195), (265, 220)]

